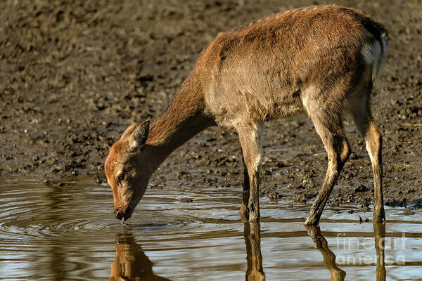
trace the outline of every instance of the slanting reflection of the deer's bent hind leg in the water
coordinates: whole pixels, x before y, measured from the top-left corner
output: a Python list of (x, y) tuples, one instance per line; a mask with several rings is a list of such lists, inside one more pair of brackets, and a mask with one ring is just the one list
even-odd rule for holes
[(314, 241), (315, 249), (318, 249), (324, 259), (324, 266), (326, 269), (330, 270), (331, 281), (343, 281), (345, 280), (346, 273), (344, 270), (338, 268), (335, 263), (335, 254), (328, 248), (328, 242), (321, 235), (321, 229), (319, 226), (305, 226), (307, 229), (308, 235)]

